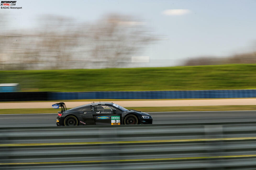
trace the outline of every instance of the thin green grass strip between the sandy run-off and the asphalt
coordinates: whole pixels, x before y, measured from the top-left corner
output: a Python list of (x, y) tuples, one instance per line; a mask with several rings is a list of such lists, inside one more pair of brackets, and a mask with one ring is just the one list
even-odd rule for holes
[[(243, 106), (181, 106), (181, 107), (127, 107), (142, 112), (178, 112), (178, 111), (237, 111), (256, 110), (255, 105)], [(0, 114), (32, 114), (32, 113), (56, 113), (59, 109), (29, 108), (29, 109), (0, 109)]]

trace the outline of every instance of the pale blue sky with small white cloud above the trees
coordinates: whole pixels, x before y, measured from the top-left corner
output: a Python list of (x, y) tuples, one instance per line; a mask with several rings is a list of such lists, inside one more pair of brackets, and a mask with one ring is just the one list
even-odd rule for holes
[(44, 14), (77, 22), (93, 22), (108, 13), (134, 16), (164, 37), (142, 54), (150, 59), (229, 56), (252, 50), (256, 42), (255, 0), (17, 0), (16, 7), (22, 9), (0, 12), (12, 17), (13, 28), (24, 29), (36, 27), (36, 18)]

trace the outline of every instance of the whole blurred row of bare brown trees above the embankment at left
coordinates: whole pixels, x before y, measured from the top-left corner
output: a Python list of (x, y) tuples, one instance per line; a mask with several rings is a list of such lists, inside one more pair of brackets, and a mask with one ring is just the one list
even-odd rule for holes
[[(130, 63), (156, 40), (145, 23), (134, 17), (109, 14), (93, 23), (77, 23), (61, 16), (38, 18), (40, 27), (0, 37), (8, 58), (0, 69), (112, 68)], [(0, 48), (1, 48), (0, 47)]]

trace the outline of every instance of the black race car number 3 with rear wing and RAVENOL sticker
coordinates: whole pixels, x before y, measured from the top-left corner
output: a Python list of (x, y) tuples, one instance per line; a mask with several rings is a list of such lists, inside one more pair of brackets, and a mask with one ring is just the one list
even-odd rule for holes
[(58, 112), (57, 126), (152, 124), (149, 114), (109, 102), (91, 103), (69, 110), (63, 102), (52, 105), (52, 108), (59, 107), (62, 109)]

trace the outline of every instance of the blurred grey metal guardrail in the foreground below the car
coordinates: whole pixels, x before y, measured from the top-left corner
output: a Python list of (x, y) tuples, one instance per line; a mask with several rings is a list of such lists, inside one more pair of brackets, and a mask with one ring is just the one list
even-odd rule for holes
[(0, 169), (255, 169), (256, 122), (0, 128)]

